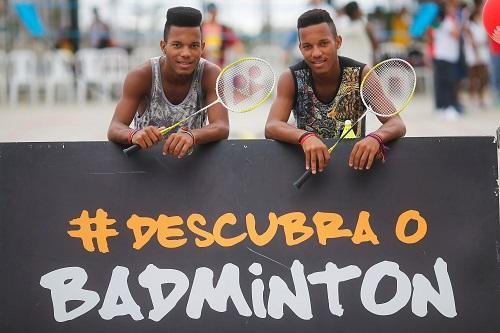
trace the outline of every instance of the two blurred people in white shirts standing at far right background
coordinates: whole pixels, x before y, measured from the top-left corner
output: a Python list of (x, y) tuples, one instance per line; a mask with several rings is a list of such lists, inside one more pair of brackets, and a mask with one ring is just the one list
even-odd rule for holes
[(428, 36), (434, 66), (436, 111), (447, 119), (465, 112), (460, 90), (467, 88), (478, 107), (484, 107), (489, 63), (486, 31), (480, 23), (482, 1), (466, 6), (458, 0), (441, 4)]

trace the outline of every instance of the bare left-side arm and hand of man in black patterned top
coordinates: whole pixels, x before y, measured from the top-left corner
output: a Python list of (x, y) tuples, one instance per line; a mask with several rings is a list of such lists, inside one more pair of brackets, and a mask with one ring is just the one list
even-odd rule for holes
[[(295, 84), (290, 71), (281, 74), (278, 81), (278, 93), (274, 100), (266, 122), (265, 135), (268, 139), (276, 139), (292, 144), (299, 144), (299, 138), (306, 132), (288, 124), (288, 118), (293, 107)], [(323, 171), (330, 159), (326, 145), (316, 136), (309, 136), (302, 142), (306, 169), (311, 168), (315, 174), (318, 169)]]

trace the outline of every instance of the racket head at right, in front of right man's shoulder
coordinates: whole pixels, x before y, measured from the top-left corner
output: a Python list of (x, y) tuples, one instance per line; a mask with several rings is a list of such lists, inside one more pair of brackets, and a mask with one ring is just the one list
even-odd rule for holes
[(387, 59), (373, 66), (361, 81), (361, 99), (370, 112), (392, 117), (408, 106), (416, 83), (412, 65), (399, 58)]

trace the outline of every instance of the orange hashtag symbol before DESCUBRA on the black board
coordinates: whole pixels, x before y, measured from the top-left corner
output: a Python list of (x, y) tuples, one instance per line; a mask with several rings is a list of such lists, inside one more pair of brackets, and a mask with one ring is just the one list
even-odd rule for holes
[(108, 253), (108, 237), (118, 235), (118, 231), (113, 228), (108, 228), (115, 222), (116, 220), (108, 219), (108, 213), (103, 209), (99, 208), (96, 211), (95, 218), (89, 217), (89, 212), (83, 210), (79, 218), (69, 221), (70, 225), (77, 225), (79, 228), (68, 231), (68, 235), (74, 238), (80, 238), (83, 243), (83, 248), (89, 252), (95, 251), (95, 239), (99, 252)]

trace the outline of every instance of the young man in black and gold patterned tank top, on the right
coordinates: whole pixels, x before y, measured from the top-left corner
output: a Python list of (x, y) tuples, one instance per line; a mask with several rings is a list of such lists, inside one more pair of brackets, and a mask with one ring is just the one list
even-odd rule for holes
[[(322, 139), (338, 138), (345, 120), (354, 123), (363, 114), (359, 86), (370, 67), (337, 55), (342, 38), (328, 12), (305, 12), (297, 21), (297, 29), (304, 60), (281, 75), (265, 134), (266, 138), (301, 145), (306, 169), (311, 168), (315, 174), (323, 171), (330, 159)], [(288, 124), (292, 111), (296, 127)], [(369, 169), (382, 144), (406, 132), (399, 116), (379, 120), (382, 126), (354, 145), (349, 156), (352, 168)], [(364, 121), (354, 132), (364, 136)]]

